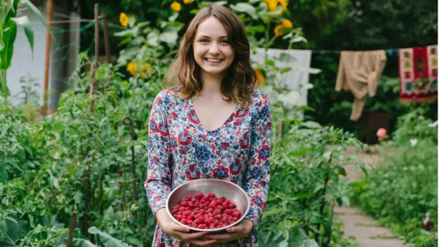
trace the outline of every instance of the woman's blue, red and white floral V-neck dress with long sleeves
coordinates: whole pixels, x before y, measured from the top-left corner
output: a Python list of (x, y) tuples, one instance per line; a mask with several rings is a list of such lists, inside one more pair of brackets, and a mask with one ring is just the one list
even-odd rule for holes
[[(250, 235), (215, 246), (257, 246), (256, 227), (265, 209), (270, 183), (272, 112), (264, 93), (252, 93), (246, 108), (237, 106), (224, 124), (206, 130), (191, 99), (166, 89), (154, 99), (148, 138), (145, 189), (152, 213), (166, 207), (172, 189), (198, 178), (219, 178), (241, 186), (250, 197), (246, 219), (254, 223)], [(190, 245), (156, 225), (152, 246)]]

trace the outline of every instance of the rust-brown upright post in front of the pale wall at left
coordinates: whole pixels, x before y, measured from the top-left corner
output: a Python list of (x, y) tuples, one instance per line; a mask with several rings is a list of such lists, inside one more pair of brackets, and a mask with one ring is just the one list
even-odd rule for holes
[(44, 71), (44, 92), (43, 92), (43, 117), (47, 116), (47, 99), (48, 99), (48, 89), (49, 89), (49, 69), (50, 69), (50, 49), (51, 49), (51, 22), (52, 14), (54, 12), (54, 1), (47, 0), (47, 32), (46, 32), (46, 61), (45, 61), (45, 71)]

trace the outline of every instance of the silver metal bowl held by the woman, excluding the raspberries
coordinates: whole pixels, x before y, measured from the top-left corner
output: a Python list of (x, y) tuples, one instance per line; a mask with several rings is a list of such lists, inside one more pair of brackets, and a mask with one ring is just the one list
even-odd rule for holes
[[(222, 228), (215, 229), (199, 229), (193, 228), (191, 226), (187, 226), (179, 222), (174, 216), (171, 214), (171, 209), (178, 204), (182, 198), (186, 196), (195, 196), (195, 193), (204, 193), (207, 194), (209, 192), (215, 193), (217, 197), (224, 196), (227, 199), (230, 199), (233, 203), (235, 203), (239, 212), (241, 212), (241, 217), (234, 222), (233, 224), (229, 224), (228, 226), (224, 226)], [(250, 197), (247, 195), (246, 191), (239, 187), (237, 184), (232, 183), (228, 180), (216, 179), (216, 178), (200, 178), (196, 180), (191, 180), (188, 183), (184, 183), (178, 187), (176, 187), (169, 196), (166, 201), (166, 211), (169, 217), (171, 217), (174, 222), (179, 224), (180, 226), (184, 226), (186, 228), (191, 229), (191, 231), (204, 231), (204, 232), (221, 232), (230, 226), (234, 226), (241, 222), (244, 217), (247, 215), (250, 209)]]

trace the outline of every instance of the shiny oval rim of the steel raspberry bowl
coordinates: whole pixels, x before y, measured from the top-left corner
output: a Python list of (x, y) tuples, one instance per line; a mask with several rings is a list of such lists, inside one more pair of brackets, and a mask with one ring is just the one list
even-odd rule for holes
[[(197, 181), (200, 182), (200, 180), (219, 180), (219, 181), (221, 181), (222, 183), (223, 183), (223, 182), (224, 182), (224, 183), (230, 183), (231, 185), (237, 187), (239, 190), (242, 191), (242, 193), (244, 193), (244, 195), (245, 195), (246, 198), (247, 198), (248, 203), (247, 203), (247, 209), (246, 209), (246, 211), (243, 213), (243, 215), (241, 215), (241, 217), (239, 217), (239, 219), (238, 219), (236, 222), (234, 222), (233, 224), (229, 224), (229, 225), (227, 225), (227, 226), (224, 226), (224, 227), (222, 227), (222, 228), (215, 228), (215, 229), (200, 229), (200, 228), (194, 228), (194, 227), (191, 227), (191, 226), (187, 226), (187, 225), (182, 224), (181, 222), (179, 222), (176, 218), (174, 218), (174, 216), (172, 215), (171, 211), (169, 210), (169, 199), (170, 199), (171, 196), (174, 194), (174, 192), (177, 191), (178, 188), (180, 188), (180, 187), (182, 187), (182, 186), (184, 186), (184, 185), (187, 185), (188, 183), (194, 183), (194, 182), (197, 182)], [(184, 226), (184, 227), (189, 228), (189, 229), (191, 229), (191, 230), (193, 230), (193, 231), (217, 232), (217, 231), (225, 230), (226, 228), (229, 228), (229, 227), (231, 227), (231, 226), (235, 226), (235, 224), (238, 224), (239, 222), (241, 222), (241, 220), (244, 220), (244, 217), (246, 217), (246, 215), (247, 215), (247, 213), (248, 213), (249, 210), (250, 210), (250, 197), (248, 196), (248, 194), (246, 193), (246, 191), (244, 191), (244, 189), (242, 189), (239, 185), (237, 185), (237, 184), (235, 184), (235, 183), (233, 183), (233, 182), (230, 182), (230, 181), (228, 181), (228, 180), (224, 180), (224, 179), (218, 179), (218, 178), (198, 178), (198, 179), (195, 179), (195, 180), (191, 180), (191, 181), (189, 181), (189, 182), (187, 182), (187, 183), (182, 183), (181, 185), (178, 185), (176, 188), (174, 188), (174, 189), (171, 191), (171, 193), (169, 193), (169, 196), (167, 196), (167, 199), (166, 199), (166, 211), (167, 211), (167, 214), (169, 215), (169, 217), (171, 217), (171, 219), (174, 220), (174, 222), (176, 222), (176, 223), (179, 224), (180, 226)]]

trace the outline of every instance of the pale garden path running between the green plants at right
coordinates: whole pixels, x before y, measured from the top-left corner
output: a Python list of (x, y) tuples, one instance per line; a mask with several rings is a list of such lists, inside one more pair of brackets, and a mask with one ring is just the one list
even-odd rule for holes
[[(373, 147), (372, 147), (373, 148)], [(379, 155), (372, 152), (366, 154), (357, 152), (355, 148), (349, 148), (347, 154), (356, 154), (361, 161), (375, 167), (379, 161)], [(353, 165), (345, 167), (346, 174), (351, 181), (358, 180), (361, 172)], [(401, 239), (394, 235), (388, 228), (379, 226), (372, 217), (364, 215), (356, 207), (334, 207), (335, 217), (343, 224), (342, 230), (346, 237), (354, 237), (357, 244), (364, 247), (405, 247)]]

